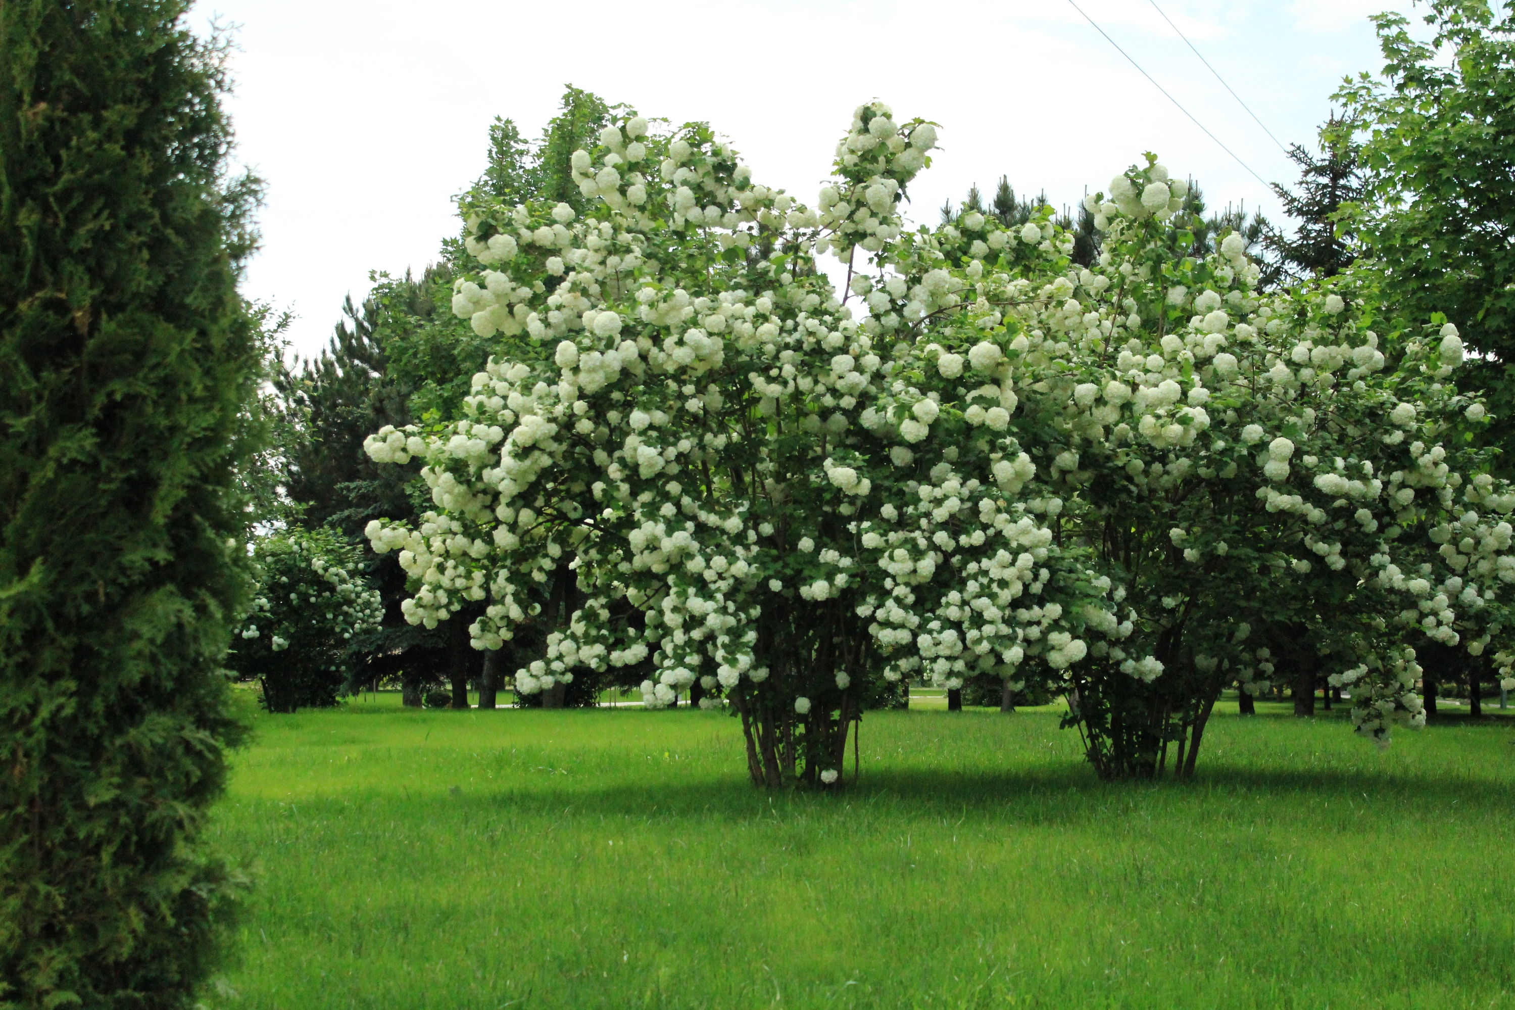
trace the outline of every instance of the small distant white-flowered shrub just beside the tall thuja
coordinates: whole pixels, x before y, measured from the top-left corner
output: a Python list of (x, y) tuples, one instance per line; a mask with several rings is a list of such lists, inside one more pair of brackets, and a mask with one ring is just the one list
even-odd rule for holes
[(291, 531), (259, 541), (253, 560), (258, 597), (227, 666), (259, 680), (270, 712), (335, 704), (355, 641), (383, 621), (359, 553), (326, 530)]

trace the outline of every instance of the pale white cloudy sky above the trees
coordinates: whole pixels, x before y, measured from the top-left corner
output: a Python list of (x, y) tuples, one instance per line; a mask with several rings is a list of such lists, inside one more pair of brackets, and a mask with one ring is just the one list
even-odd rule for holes
[[(1150, 0), (1077, 0), (1267, 180), (1295, 171)], [(1314, 142), (1345, 74), (1377, 71), (1367, 15), (1406, 0), (1157, 0), (1285, 144)], [(1070, 0), (929, 3), (653, 0), (627, 6), (465, 0), (201, 0), (238, 26), (238, 157), (268, 183), (245, 292), (292, 309), (311, 354), (371, 270), (403, 274), (456, 233), (451, 195), (485, 167), (488, 127), (539, 135), (564, 85), (674, 123), (706, 120), (754, 177), (814, 203), (851, 109), (941, 124), (912, 186), (915, 220), (992, 194), (1057, 206), (1157, 151), (1212, 209), (1276, 214), (1267, 188), (1145, 80)]]

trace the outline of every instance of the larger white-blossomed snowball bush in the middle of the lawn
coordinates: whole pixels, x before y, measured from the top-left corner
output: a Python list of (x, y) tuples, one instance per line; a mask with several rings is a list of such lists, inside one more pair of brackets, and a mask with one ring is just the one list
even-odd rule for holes
[[(527, 694), (585, 666), (647, 665), (651, 706), (698, 680), (739, 713), (770, 786), (838, 780), (871, 681), (921, 662), (1012, 669), (1027, 651), (1067, 666), (1091, 619), (1118, 633), (1109, 581), (1020, 501), (1035, 468), (1004, 430), (1001, 347), (944, 357), (900, 339), (968, 282), (941, 256), (885, 282), (888, 330), (844, 304), (886, 268), (933, 145), (929, 123), (857, 109), (812, 209), (708, 127), (651, 135), (629, 117), (574, 154), (588, 215), (468, 207), (477, 271), (453, 307), (500, 351), (464, 416), (370, 441), (376, 459), (424, 456), (438, 506), (420, 528), (370, 528), (417, 578), (412, 618), (488, 601), (483, 648), (548, 622), (547, 657), (517, 674)], [(850, 263), (844, 297), (824, 251)], [(947, 404), (968, 369), (994, 419), (965, 441)], [(1044, 606), (1012, 612), (1020, 597)]]

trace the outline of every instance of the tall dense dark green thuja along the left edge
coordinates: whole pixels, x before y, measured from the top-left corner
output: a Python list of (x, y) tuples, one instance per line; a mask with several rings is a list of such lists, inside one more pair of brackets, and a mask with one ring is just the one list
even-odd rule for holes
[(236, 295), (221, 51), (176, 2), (0, 6), (0, 1001), (188, 1007), (236, 877)]

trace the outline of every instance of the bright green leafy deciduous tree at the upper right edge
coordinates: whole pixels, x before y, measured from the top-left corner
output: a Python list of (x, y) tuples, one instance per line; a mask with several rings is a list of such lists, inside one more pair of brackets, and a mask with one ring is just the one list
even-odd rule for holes
[(1492, 357), (1492, 391), (1507, 379), (1489, 373), (1515, 356), (1515, 12), (1485, 0), (1427, 6), (1429, 41), (1410, 36), (1406, 17), (1377, 15), (1382, 79), (1362, 74), (1336, 94), (1364, 138), (1356, 227), (1389, 301), (1406, 318), (1444, 312)]

